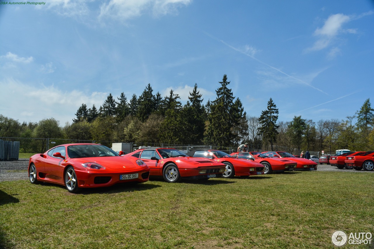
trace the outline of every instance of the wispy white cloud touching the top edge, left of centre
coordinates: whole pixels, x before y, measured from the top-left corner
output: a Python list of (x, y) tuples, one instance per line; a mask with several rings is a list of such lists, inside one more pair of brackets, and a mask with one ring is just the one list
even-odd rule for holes
[(155, 16), (166, 15), (177, 13), (179, 6), (188, 5), (190, 2), (191, 0), (110, 0), (101, 5), (99, 18), (127, 20), (141, 16), (148, 10)]

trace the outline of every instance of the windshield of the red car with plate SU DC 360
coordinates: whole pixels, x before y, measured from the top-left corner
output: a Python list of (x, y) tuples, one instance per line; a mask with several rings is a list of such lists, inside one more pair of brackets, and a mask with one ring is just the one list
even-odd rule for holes
[(114, 157), (119, 156), (110, 148), (100, 144), (80, 144), (68, 146), (68, 156), (70, 158), (81, 157)]

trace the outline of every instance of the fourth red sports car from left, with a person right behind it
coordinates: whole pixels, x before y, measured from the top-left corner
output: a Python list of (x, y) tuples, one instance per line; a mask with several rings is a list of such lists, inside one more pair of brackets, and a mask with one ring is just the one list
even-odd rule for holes
[(264, 174), (274, 172), (292, 171), (296, 167), (294, 161), (283, 158), (268, 157), (260, 152), (234, 152), (230, 154), (233, 157), (252, 160), (264, 165)]

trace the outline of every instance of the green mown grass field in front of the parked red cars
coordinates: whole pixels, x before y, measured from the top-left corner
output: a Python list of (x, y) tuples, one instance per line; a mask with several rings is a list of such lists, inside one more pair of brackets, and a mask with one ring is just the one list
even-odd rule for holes
[(286, 172), (79, 194), (0, 182), (0, 248), (334, 248), (335, 230), (374, 234), (373, 182), (370, 173)]

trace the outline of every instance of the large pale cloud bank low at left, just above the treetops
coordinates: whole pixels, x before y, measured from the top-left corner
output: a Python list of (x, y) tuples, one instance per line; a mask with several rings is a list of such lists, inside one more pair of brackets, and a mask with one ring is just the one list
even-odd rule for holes
[[(39, 122), (51, 117), (59, 120), (61, 125), (65, 122), (71, 123), (83, 103), (88, 108), (93, 104), (99, 108), (108, 95), (104, 92), (66, 91), (64, 87), (36, 87), (14, 79), (0, 81), (0, 89), (2, 89), (0, 114), (19, 120), (21, 123)], [(11, 108), (9, 108), (10, 104)]]

